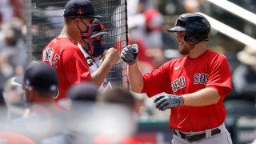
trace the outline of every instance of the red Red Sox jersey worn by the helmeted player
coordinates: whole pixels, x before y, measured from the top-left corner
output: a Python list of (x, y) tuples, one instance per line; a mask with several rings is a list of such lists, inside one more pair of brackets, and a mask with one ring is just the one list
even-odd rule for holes
[(211, 50), (198, 58), (178, 58), (166, 62), (158, 70), (144, 74), (142, 93), (149, 97), (162, 92), (190, 94), (206, 87), (218, 90), (221, 99), (209, 106), (178, 106), (171, 109), (170, 128), (182, 131), (201, 131), (224, 122), (226, 110), (223, 99), (230, 93), (231, 72), (226, 57)]

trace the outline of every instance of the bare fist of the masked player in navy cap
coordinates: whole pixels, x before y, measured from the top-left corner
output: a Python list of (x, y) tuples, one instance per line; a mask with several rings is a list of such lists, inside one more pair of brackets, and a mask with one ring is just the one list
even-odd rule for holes
[(118, 63), (120, 55), (118, 54), (118, 50), (115, 50), (113, 47), (111, 47), (109, 50), (106, 50), (106, 54), (103, 58), (103, 61), (108, 61), (108, 63), (114, 65)]

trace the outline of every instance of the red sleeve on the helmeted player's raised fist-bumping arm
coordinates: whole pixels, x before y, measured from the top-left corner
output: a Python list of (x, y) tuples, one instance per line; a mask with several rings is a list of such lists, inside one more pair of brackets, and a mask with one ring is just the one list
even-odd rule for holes
[(156, 94), (166, 92), (171, 93), (170, 90), (170, 62), (165, 63), (157, 70), (143, 75), (144, 86), (142, 93), (146, 93), (149, 97)]

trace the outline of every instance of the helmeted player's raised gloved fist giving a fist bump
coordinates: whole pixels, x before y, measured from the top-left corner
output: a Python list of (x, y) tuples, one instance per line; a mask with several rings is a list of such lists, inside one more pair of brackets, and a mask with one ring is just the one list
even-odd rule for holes
[(137, 61), (137, 56), (137, 44), (128, 45), (122, 50), (121, 58), (123, 61), (127, 62), (128, 65), (133, 65)]

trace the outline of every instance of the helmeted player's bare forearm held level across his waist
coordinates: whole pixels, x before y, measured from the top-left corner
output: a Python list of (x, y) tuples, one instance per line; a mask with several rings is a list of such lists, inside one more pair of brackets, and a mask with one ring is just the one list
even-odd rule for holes
[(216, 104), (220, 95), (213, 88), (205, 88), (191, 94), (182, 94), (184, 106), (208, 106)]

